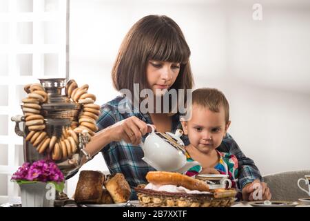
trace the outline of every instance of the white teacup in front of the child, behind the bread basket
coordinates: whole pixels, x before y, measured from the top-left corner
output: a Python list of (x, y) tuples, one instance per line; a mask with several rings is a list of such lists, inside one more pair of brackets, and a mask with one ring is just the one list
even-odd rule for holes
[(203, 180), (209, 185), (209, 189), (231, 188), (231, 180), (225, 174), (198, 174), (196, 179)]

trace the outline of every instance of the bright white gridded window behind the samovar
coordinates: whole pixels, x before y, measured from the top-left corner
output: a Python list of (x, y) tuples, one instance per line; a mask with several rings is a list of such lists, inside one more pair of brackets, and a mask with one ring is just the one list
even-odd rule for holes
[(19, 197), (10, 178), (23, 163), (23, 138), (10, 118), (22, 115), (23, 86), (67, 76), (68, 12), (65, 0), (0, 0), (0, 204)]

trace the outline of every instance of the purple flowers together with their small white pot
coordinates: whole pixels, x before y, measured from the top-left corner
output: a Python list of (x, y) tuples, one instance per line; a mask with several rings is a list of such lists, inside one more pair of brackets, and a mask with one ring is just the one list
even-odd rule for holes
[(12, 181), (21, 188), (23, 207), (54, 206), (56, 191), (64, 188), (63, 173), (54, 162), (39, 160), (26, 162), (12, 175)]

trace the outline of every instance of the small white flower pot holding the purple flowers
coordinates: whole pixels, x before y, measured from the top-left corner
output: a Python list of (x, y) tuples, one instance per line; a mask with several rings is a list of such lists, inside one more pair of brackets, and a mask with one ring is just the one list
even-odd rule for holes
[(49, 199), (45, 182), (19, 184), (22, 207), (53, 207), (54, 200)]

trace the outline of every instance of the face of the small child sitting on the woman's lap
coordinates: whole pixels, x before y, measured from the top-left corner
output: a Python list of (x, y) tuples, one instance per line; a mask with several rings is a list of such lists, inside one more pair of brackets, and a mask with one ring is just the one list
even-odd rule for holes
[(192, 118), (182, 122), (185, 135), (189, 142), (202, 153), (209, 153), (220, 146), (225, 137), (230, 121), (225, 123), (225, 111), (220, 106), (220, 112), (214, 113), (209, 108), (193, 105)]

